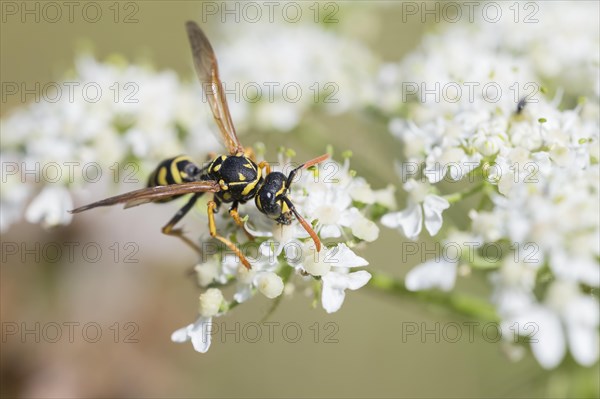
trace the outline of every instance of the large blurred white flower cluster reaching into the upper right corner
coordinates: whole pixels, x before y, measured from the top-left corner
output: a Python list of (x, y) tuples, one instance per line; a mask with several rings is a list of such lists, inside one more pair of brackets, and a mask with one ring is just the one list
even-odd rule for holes
[(571, 105), (598, 98), (598, 3), (527, 4), (537, 10), (525, 13), (535, 21), (516, 17), (516, 5), (506, 3), (497, 23), (479, 18), (427, 34), (416, 51), (380, 68), (373, 105), (425, 123), (468, 110), (516, 108), (523, 98), (540, 101), (544, 92), (563, 93)]

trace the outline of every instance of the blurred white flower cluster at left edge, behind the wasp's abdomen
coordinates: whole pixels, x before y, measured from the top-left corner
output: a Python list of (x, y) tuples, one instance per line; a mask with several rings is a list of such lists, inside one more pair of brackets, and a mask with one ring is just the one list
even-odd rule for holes
[[(115, 162), (118, 168), (140, 165), (139, 178), (167, 157), (205, 157), (219, 148), (208, 134), (212, 121), (198, 112), (207, 108), (198, 85), (183, 84), (172, 71), (121, 64), (82, 56), (74, 76), (48, 95), (52, 101), (32, 102), (2, 119), (2, 231), (21, 218), (36, 191), (33, 183), (43, 184), (26, 219), (68, 224), (69, 189), (111, 174)], [(82, 178), (85, 171), (91, 171), (89, 179)]]

